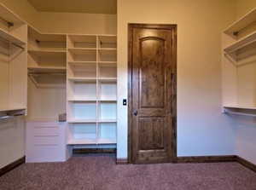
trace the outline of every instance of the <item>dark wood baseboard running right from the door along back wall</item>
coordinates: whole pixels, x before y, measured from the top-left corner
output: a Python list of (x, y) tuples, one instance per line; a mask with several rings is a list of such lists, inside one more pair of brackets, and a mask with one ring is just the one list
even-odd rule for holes
[(227, 155), (227, 156), (177, 157), (176, 163), (216, 163), (216, 162), (236, 162), (236, 156)]

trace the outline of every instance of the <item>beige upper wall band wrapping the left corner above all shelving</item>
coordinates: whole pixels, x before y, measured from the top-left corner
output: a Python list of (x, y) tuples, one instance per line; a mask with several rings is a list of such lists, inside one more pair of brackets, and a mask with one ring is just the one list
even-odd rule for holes
[(116, 14), (38, 12), (26, 0), (0, 0), (20, 18), (42, 32), (116, 34)]

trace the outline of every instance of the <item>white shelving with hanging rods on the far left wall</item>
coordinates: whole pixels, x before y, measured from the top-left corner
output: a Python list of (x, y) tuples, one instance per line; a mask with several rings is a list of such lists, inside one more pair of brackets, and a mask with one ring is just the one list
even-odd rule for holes
[(0, 3), (0, 113), (26, 110), (26, 22)]

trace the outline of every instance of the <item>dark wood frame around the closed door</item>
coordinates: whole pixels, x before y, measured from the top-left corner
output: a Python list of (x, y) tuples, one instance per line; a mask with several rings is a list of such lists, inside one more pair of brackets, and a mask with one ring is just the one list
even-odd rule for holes
[(132, 29), (172, 30), (172, 162), (177, 162), (177, 25), (128, 24), (128, 163), (132, 164)]

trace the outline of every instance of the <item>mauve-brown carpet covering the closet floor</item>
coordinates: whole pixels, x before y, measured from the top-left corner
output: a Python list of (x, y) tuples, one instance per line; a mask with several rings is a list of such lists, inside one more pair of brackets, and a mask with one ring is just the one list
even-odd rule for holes
[(112, 157), (23, 164), (0, 178), (18, 190), (256, 190), (256, 173), (238, 163), (116, 165)]

